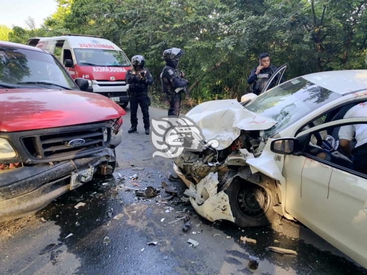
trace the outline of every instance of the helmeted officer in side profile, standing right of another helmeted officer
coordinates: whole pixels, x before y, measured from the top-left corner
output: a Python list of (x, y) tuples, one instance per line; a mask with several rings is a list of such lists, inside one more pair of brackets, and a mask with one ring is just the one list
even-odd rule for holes
[(166, 94), (169, 102), (168, 116), (178, 116), (181, 107), (181, 92), (189, 96), (188, 81), (183, 79), (184, 73), (180, 73), (176, 67), (179, 59), (183, 56), (183, 51), (178, 48), (167, 49), (163, 52), (165, 66), (160, 74), (162, 92)]

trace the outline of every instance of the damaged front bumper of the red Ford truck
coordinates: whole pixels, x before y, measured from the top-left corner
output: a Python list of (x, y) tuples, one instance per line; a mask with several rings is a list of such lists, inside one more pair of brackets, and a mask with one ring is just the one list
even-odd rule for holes
[(71, 189), (72, 173), (115, 160), (113, 149), (58, 163), (24, 166), (0, 174), (0, 220), (37, 211)]

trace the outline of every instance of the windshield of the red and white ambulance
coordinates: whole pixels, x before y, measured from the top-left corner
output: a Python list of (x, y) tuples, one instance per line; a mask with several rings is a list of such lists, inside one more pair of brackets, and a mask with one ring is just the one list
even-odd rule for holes
[(122, 51), (103, 49), (74, 49), (79, 65), (128, 67), (130, 62)]

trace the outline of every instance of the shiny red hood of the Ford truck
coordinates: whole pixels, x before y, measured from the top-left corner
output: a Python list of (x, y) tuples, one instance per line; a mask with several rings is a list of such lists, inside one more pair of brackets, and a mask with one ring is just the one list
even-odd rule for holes
[(0, 131), (15, 132), (116, 119), (126, 112), (108, 98), (53, 89), (0, 89)]

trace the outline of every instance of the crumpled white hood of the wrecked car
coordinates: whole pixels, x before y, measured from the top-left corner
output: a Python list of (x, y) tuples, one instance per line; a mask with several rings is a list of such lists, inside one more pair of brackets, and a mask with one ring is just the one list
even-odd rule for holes
[(202, 103), (187, 114), (202, 130), (205, 141), (219, 141), (218, 150), (227, 148), (240, 136), (241, 130), (266, 130), (276, 121), (245, 109), (236, 99)]

